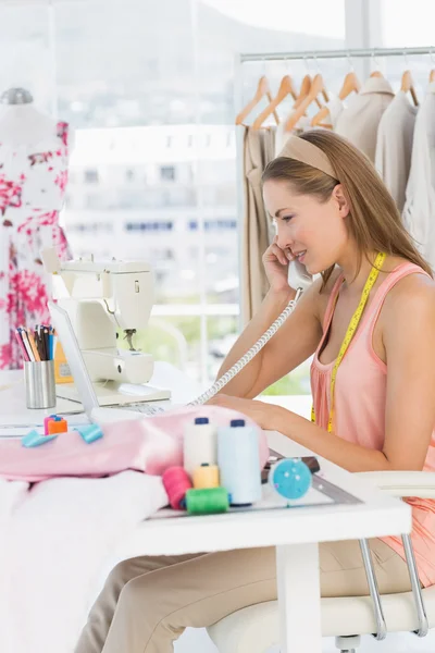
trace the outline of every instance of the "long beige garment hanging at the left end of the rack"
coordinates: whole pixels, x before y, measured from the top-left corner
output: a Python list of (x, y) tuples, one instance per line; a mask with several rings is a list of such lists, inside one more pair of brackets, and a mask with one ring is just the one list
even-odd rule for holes
[(273, 238), (261, 192), (261, 175), (274, 158), (275, 130), (245, 127), (244, 224), (243, 224), (243, 316), (249, 322), (269, 289), (262, 256)]

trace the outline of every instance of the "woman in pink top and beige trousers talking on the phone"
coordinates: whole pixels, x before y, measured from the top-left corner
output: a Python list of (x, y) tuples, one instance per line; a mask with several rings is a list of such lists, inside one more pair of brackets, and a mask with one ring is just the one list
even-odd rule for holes
[[(289, 260), (298, 257), (322, 279), (213, 403), (350, 471), (435, 470), (435, 283), (384, 184), (363, 155), (324, 131), (291, 136), (263, 182), (277, 227), (263, 258), (270, 291), (220, 373), (295, 296)], [(353, 337), (343, 356), (350, 323)], [(315, 422), (254, 399), (312, 354)], [(420, 580), (430, 586), (435, 506), (410, 503)], [(370, 544), (381, 592), (408, 591), (400, 540)], [(320, 566), (324, 596), (368, 594), (357, 542), (322, 544)], [(186, 626), (209, 626), (275, 597), (272, 549), (126, 560), (110, 575), (76, 653), (170, 653)]]

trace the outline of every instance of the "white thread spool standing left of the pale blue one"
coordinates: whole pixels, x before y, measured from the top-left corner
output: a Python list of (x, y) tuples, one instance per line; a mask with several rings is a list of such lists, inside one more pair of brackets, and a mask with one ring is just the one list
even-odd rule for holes
[(197, 417), (184, 429), (183, 467), (192, 476), (202, 463), (217, 463), (216, 429), (208, 417)]

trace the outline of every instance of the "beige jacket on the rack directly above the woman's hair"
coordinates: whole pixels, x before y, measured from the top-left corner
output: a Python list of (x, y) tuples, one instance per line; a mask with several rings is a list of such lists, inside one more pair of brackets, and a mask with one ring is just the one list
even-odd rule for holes
[(349, 99), (340, 113), (335, 131), (374, 162), (377, 127), (394, 98), (393, 88), (384, 77), (369, 77), (360, 93)]

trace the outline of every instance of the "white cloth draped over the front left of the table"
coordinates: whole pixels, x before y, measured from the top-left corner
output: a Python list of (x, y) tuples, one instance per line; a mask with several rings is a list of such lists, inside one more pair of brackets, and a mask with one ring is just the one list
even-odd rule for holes
[[(0, 504), (5, 488), (0, 485)], [(1, 653), (72, 653), (116, 549), (167, 503), (160, 477), (125, 471), (34, 485), (9, 519)], [(4, 533), (0, 531), (0, 541)]]

